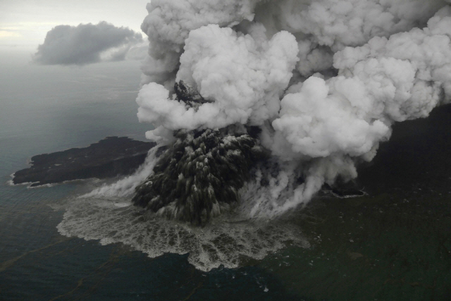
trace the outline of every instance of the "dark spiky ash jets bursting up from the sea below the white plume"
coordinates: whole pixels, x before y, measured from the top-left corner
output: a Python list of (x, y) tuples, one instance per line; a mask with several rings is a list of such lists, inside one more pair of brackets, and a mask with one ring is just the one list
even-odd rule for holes
[(237, 201), (237, 190), (261, 157), (261, 147), (248, 134), (223, 130), (175, 133), (132, 202), (151, 211), (194, 225), (204, 225), (221, 213), (221, 204)]

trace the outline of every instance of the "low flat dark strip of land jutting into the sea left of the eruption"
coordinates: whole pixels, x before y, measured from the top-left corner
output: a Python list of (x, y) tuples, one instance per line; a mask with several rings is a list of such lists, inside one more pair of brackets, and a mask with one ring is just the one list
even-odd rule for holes
[(135, 171), (146, 159), (152, 142), (128, 137), (106, 137), (84, 148), (39, 154), (31, 158), (30, 168), (17, 171), (13, 183), (39, 186), (86, 178), (113, 178)]

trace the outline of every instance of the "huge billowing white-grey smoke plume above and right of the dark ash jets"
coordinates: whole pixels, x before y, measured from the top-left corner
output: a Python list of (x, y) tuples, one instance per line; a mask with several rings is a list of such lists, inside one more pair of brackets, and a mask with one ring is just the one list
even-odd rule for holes
[[(280, 214), (356, 178), (393, 123), (450, 101), (447, 2), (153, 0), (138, 117), (166, 145), (180, 130), (259, 128), (269, 157), (243, 208)], [(183, 101), (180, 83), (204, 101)]]

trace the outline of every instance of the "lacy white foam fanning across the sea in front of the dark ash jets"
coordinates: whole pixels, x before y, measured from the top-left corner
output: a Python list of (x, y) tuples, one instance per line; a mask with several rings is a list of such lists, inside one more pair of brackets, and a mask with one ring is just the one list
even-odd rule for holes
[[(246, 258), (263, 259), (287, 245), (309, 247), (297, 226), (282, 221), (243, 219), (223, 214), (204, 228), (170, 221), (130, 206), (130, 199), (82, 197), (67, 202), (58, 232), (68, 237), (122, 242), (149, 257), (187, 254), (197, 269), (236, 268)], [(119, 204), (119, 206), (118, 206)]]

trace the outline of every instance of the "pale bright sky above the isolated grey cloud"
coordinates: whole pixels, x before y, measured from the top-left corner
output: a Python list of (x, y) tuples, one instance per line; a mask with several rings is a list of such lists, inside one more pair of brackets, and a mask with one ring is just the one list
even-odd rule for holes
[[(57, 25), (106, 21), (141, 32), (149, 0), (1, 0), (0, 51), (16, 59), (31, 55)], [(145, 38), (145, 35), (143, 35)]]

